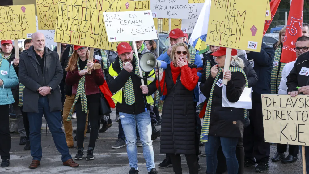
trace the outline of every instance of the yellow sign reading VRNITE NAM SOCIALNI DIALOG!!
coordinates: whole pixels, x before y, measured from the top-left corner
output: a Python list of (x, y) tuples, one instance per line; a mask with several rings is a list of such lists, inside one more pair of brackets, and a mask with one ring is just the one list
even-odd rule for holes
[(212, 1), (206, 44), (260, 52), (267, 1)]

